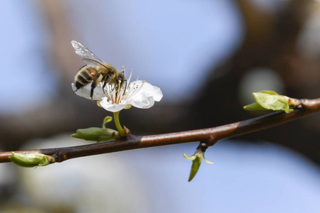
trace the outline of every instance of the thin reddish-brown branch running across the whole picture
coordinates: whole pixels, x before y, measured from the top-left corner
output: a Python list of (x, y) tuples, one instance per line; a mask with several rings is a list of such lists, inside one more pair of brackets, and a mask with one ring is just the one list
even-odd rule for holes
[[(226, 124), (208, 129), (193, 131), (181, 131), (176, 133), (165, 133), (152, 136), (134, 136), (119, 141), (103, 143), (92, 143), (85, 146), (72, 146), (64, 148), (46, 148), (28, 151), (15, 151), (16, 153), (43, 153), (52, 155), (55, 162), (62, 162), (71, 158), (79, 158), (88, 155), (127, 151), (137, 148), (148, 148), (154, 146), (166, 146), (178, 143), (194, 141), (206, 141), (208, 146), (213, 146), (217, 141), (245, 133), (267, 129), (272, 126), (284, 124), (302, 116), (320, 111), (320, 99), (302, 99), (299, 101), (298, 109), (286, 114), (284, 111), (277, 111), (255, 119)], [(0, 163), (10, 162), (11, 152), (0, 153)]]

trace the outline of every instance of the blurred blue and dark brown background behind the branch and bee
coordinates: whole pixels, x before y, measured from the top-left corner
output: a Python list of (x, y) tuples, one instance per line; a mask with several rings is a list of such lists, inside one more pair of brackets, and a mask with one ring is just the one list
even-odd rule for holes
[[(0, 150), (87, 144), (76, 129), (110, 112), (73, 93), (84, 65), (70, 40), (161, 88), (120, 114), (136, 135), (260, 116), (252, 92), (320, 97), (320, 1), (1, 1)], [(114, 128), (110, 124), (110, 128)], [(320, 114), (208, 148), (198, 143), (0, 165), (0, 212), (318, 212)]]

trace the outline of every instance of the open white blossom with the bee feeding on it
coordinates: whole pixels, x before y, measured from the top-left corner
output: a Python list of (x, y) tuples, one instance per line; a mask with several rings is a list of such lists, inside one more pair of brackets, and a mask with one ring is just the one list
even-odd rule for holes
[[(100, 101), (100, 106), (107, 111), (120, 111), (124, 107), (137, 107), (141, 109), (149, 109), (154, 106), (154, 102), (159, 102), (163, 96), (161, 89), (155, 87), (148, 82), (136, 80), (130, 82), (131, 75), (127, 80), (127, 87), (125, 84), (120, 90), (114, 89), (114, 85), (107, 84), (105, 86), (105, 93), (102, 91), (102, 83), (97, 85), (94, 90), (92, 99)], [(72, 84), (73, 91), (76, 90), (75, 84)], [(75, 94), (80, 97), (91, 99), (90, 97), (91, 84), (78, 89)], [(125, 89), (125, 90), (124, 90)]]

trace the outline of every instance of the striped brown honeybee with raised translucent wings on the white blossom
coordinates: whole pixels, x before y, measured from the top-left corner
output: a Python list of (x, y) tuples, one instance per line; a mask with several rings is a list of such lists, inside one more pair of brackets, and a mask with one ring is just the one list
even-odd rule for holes
[(102, 62), (100, 58), (97, 58), (95, 54), (80, 42), (71, 40), (71, 44), (75, 48), (75, 53), (80, 55), (84, 62), (87, 62), (87, 65), (81, 67), (77, 75), (75, 75), (74, 83), (77, 89), (74, 92), (91, 83), (90, 97), (92, 99), (95, 87), (100, 82), (103, 82), (103, 93), (105, 93), (105, 86), (107, 84), (114, 85), (113, 88), (119, 90), (124, 82), (126, 82), (125, 87), (127, 87), (124, 72), (119, 72), (116, 67), (107, 62)]

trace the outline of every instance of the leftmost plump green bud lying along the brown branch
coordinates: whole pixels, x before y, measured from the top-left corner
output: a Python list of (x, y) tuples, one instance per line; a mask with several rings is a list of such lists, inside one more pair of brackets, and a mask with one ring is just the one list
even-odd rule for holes
[(12, 152), (12, 155), (9, 158), (12, 163), (15, 163), (16, 165), (31, 168), (38, 165), (42, 166), (50, 164), (48, 157), (50, 156), (42, 153), (20, 154)]

